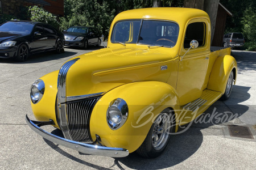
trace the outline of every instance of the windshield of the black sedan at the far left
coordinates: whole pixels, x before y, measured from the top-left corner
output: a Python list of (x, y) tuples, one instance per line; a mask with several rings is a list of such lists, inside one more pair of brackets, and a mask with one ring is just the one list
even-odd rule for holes
[(22, 22), (7, 22), (0, 26), (1, 32), (30, 34), (34, 24)]

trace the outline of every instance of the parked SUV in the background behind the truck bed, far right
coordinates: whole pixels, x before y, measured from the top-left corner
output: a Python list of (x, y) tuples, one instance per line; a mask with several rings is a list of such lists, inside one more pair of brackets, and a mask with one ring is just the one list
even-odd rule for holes
[(245, 39), (242, 33), (232, 32), (224, 35), (223, 46), (243, 46)]

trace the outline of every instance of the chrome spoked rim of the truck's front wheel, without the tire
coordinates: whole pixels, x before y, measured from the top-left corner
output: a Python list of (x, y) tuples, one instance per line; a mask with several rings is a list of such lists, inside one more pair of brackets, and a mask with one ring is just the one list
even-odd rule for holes
[(162, 113), (156, 118), (152, 133), (152, 146), (160, 150), (166, 145), (170, 135), (171, 122), (167, 113)]

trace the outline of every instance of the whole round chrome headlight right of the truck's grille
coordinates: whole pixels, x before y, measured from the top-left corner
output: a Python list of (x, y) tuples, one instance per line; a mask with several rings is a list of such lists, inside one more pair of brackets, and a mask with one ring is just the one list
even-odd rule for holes
[(125, 124), (128, 116), (128, 105), (123, 99), (113, 100), (107, 111), (107, 122), (112, 130), (117, 130)]

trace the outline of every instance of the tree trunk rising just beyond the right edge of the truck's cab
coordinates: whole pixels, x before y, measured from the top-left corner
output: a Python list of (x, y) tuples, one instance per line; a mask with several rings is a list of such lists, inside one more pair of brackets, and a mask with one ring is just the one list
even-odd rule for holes
[(204, 11), (207, 12), (207, 14), (210, 17), (210, 25), (211, 25), (210, 44), (212, 44), (214, 30), (215, 30), (215, 24), (216, 24), (217, 12), (218, 12), (218, 2), (220, 2), (220, 0), (204, 0)]

